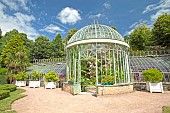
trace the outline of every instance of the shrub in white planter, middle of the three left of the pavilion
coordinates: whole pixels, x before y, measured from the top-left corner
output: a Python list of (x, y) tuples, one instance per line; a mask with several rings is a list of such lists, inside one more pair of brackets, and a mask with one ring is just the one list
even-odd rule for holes
[(40, 76), (41, 74), (39, 72), (33, 71), (30, 74), (30, 81), (29, 81), (29, 87), (40, 87)]

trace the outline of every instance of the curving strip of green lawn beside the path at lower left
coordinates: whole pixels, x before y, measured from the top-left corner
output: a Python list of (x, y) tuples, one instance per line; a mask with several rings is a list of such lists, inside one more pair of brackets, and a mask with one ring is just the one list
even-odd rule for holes
[(25, 92), (24, 89), (17, 89), (14, 92), (10, 93), (10, 96), (0, 100), (0, 113), (16, 113), (16, 111), (11, 110), (11, 104), (20, 98), (25, 97), (26, 95), (20, 94), (22, 92)]

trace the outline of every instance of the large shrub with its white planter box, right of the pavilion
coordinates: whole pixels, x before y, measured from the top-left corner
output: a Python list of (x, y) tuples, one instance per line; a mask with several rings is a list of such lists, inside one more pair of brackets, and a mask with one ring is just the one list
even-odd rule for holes
[(146, 81), (146, 89), (152, 92), (162, 92), (163, 93), (163, 74), (156, 68), (151, 68), (148, 70), (144, 70), (142, 72), (144, 76), (144, 80)]

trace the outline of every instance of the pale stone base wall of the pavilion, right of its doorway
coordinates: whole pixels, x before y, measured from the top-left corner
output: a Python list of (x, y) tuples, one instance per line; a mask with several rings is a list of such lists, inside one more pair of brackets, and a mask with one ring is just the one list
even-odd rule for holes
[(116, 95), (133, 92), (133, 84), (97, 86), (97, 95)]

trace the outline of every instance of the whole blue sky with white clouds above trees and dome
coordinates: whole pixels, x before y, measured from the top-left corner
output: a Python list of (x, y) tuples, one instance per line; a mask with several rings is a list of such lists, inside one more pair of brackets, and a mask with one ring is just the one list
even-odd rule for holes
[(152, 27), (163, 13), (170, 14), (170, 0), (0, 0), (0, 28), (3, 35), (17, 29), (32, 40), (39, 35), (52, 40), (97, 19), (125, 36), (139, 23)]

